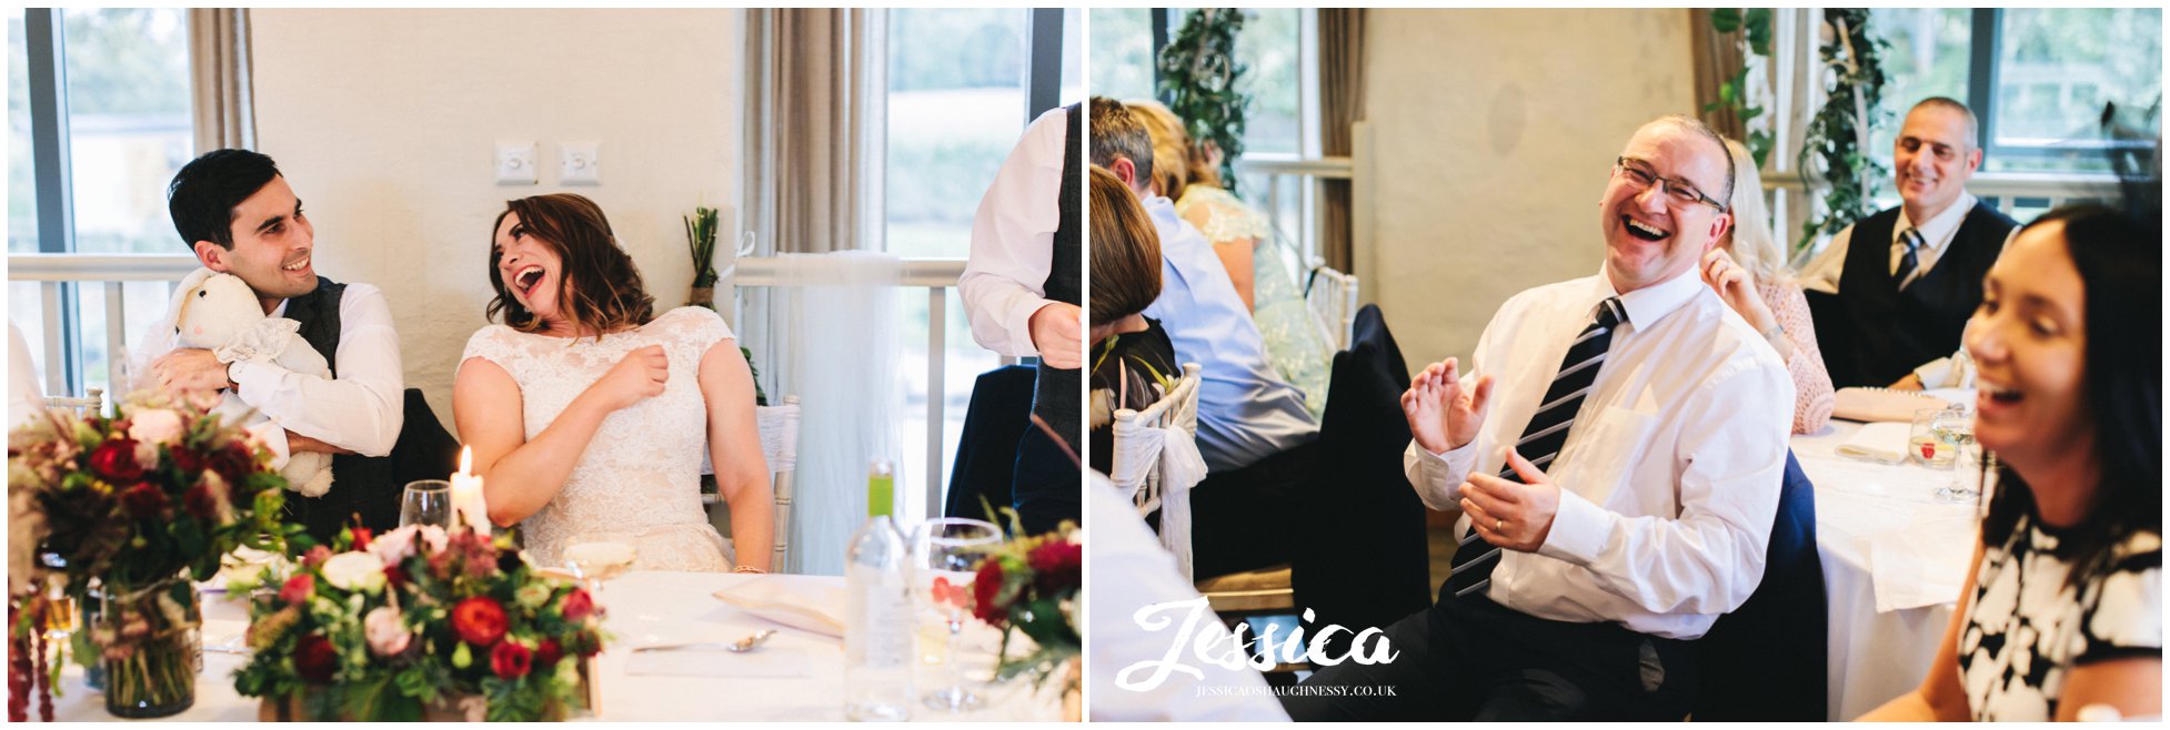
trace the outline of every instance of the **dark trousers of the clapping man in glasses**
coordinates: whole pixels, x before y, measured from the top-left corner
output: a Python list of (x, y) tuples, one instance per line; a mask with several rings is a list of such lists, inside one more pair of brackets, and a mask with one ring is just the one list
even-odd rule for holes
[[(1298, 721), (1680, 721), (1695, 700), (1688, 641), (1619, 624), (1549, 622), (1482, 596), (1387, 628), (1391, 663), (1322, 667), (1280, 698)], [(1361, 648), (1376, 650), (1378, 639)]]

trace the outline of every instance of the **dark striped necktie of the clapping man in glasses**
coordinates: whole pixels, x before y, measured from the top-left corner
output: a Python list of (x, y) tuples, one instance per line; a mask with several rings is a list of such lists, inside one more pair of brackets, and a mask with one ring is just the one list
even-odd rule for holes
[[(1536, 468), (1549, 466), (1560, 455), (1560, 446), (1567, 446), (1575, 412), (1582, 409), (1582, 399), (1597, 383), (1597, 368), (1606, 364), (1606, 351), (1612, 349), (1614, 325), (1628, 321), (1619, 297), (1599, 301), (1593, 314), (1595, 321), (1582, 327), (1575, 342), (1567, 347), (1560, 373), (1552, 377), (1552, 388), (1545, 388), (1545, 401), (1530, 416), (1530, 425), (1521, 429), (1521, 440), (1515, 442), (1515, 451)], [(1515, 474), (1515, 466), (1502, 466), (1499, 479), (1521, 481), (1521, 474)], [(1482, 591), (1491, 585), (1491, 572), (1497, 565), (1499, 548), (1478, 537), (1476, 524), (1471, 524), (1460, 548), (1454, 550), (1447, 589), (1454, 591), (1454, 598)]]

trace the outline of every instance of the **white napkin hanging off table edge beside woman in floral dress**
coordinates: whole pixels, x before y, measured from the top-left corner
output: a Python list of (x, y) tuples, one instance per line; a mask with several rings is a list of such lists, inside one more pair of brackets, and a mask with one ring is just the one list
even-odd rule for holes
[(1957, 602), (1975, 559), (1977, 524), (1973, 505), (1938, 505), (1901, 531), (1868, 537), (1877, 613)]

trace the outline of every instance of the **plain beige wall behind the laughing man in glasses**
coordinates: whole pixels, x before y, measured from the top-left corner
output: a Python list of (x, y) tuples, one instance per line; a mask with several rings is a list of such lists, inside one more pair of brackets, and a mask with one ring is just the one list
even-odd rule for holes
[(1597, 197), (1636, 126), (1695, 113), (1684, 9), (1384, 11), (1367, 24), (1376, 247), (1358, 271), (1410, 370), (1469, 357), (1515, 292), (1597, 273)]

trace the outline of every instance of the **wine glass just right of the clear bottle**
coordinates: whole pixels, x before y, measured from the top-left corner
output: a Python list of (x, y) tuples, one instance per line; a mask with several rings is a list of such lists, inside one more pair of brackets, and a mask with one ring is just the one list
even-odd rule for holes
[(911, 533), (911, 559), (918, 570), (920, 607), (948, 630), (944, 637), (944, 665), (948, 682), (927, 693), (927, 706), (937, 711), (976, 711), (985, 702), (963, 687), (963, 667), (957, 663), (957, 635), (963, 633), (966, 607), (972, 596), (972, 576), (981, 557), (1003, 542), (1003, 531), (992, 522), (966, 518), (937, 518), (920, 524)]

